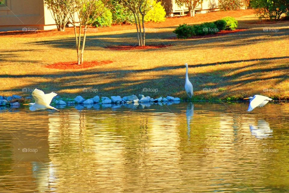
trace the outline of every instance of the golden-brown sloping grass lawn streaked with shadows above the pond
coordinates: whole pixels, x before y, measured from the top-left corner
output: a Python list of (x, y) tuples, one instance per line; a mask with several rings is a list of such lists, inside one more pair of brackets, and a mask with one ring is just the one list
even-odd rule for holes
[[(183, 23), (200, 23), (233, 16), (241, 29), (223, 36), (177, 40), (172, 31)], [(185, 65), (194, 86), (194, 100), (235, 100), (262, 94), (289, 98), (288, 22), (263, 24), (252, 10), (197, 14), (195, 18), (167, 18), (148, 23), (147, 44), (172, 46), (158, 49), (112, 50), (107, 46), (134, 45), (134, 26), (91, 30), (87, 36), (85, 61), (110, 60), (93, 68), (58, 70), (46, 68), (56, 62), (76, 61), (72, 29), (61, 33), (0, 33), (0, 95), (29, 96), (30, 91), (54, 91), (62, 97), (178, 96), (184, 91)], [(263, 28), (278, 29), (266, 32)], [(84, 92), (83, 89), (97, 92)], [(157, 92), (143, 92), (143, 88)], [(94, 90), (94, 91), (95, 91)], [(209, 92), (208, 92), (209, 91)]]

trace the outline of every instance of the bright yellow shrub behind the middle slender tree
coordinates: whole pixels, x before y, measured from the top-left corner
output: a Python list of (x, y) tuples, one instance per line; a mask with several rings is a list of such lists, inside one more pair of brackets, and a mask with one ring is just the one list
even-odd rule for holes
[(144, 16), (144, 21), (153, 21), (153, 22), (161, 22), (165, 21), (166, 11), (161, 5), (161, 2), (156, 3), (155, 1), (152, 2), (154, 5), (150, 11)]

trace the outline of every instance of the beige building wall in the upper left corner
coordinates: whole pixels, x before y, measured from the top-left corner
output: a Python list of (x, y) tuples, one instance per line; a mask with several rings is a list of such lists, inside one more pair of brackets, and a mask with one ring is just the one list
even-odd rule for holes
[(0, 5), (0, 31), (55, 28), (44, 0), (6, 0), (6, 5)]

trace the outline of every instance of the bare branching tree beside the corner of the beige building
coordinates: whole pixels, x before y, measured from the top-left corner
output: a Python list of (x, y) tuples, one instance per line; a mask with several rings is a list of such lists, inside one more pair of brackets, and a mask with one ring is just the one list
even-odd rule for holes
[(64, 31), (68, 21), (65, 0), (45, 0), (45, 5), (50, 10), (58, 31)]

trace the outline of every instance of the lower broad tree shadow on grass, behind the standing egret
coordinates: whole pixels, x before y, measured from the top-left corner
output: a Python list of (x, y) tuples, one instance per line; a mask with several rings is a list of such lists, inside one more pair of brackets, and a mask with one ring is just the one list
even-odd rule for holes
[[(253, 62), (251, 64), (228, 68), (227, 70), (212, 70), (210, 72), (204, 73), (190, 73), (190, 80), (194, 85), (195, 92), (203, 92), (204, 88), (221, 88), (221, 87), (232, 87), (232, 85), (238, 85), (238, 88), (231, 92), (231, 90), (226, 90), (224, 92), (216, 93), (215, 96), (218, 98), (224, 98), (228, 94), (234, 95), (234, 93), (242, 92), (241, 89), (246, 87), (246, 84), (251, 84), (258, 81), (266, 80), (276, 80), (276, 81), (285, 81), (287, 80), (288, 64), (282, 64), (276, 68), (266, 67), (269, 65), (269, 60), (283, 60), (288, 59), (286, 57), (274, 57), (274, 58), (261, 58), (261, 59), (251, 59), (246, 61), (225, 61), (217, 63), (208, 63), (208, 64), (197, 64), (190, 65), (189, 67), (203, 67), (203, 66), (214, 66), (214, 65), (229, 65), (232, 63), (240, 62)], [(265, 62), (265, 63), (264, 63)], [(266, 63), (267, 62), (267, 63)], [(260, 65), (263, 65), (263, 68), (259, 68)], [(171, 74), (169, 72), (173, 69), (184, 69), (183, 74)], [(105, 68), (104, 68), (105, 69)], [(212, 68), (213, 69), (213, 68)], [(266, 78), (260, 77), (259, 73), (268, 73), (270, 71), (278, 71), (276, 75), (272, 75)], [(160, 75), (156, 75), (154, 78), (137, 79), (141, 76), (142, 72), (161, 72)], [(34, 77), (41, 80), (43, 74), (25, 74), (25, 75), (0, 75), (0, 78), (26, 78)], [(49, 81), (47, 79), (50, 79)], [(109, 81), (105, 80), (108, 79)], [(104, 81), (99, 81), (104, 80)], [(61, 84), (59, 84), (61, 82)], [(45, 92), (60, 92), (61, 96), (72, 96), (77, 95), (85, 96), (85, 98), (90, 98), (95, 95), (100, 96), (113, 96), (121, 95), (127, 96), (131, 94), (144, 94), (152, 97), (158, 97), (163, 94), (180, 96), (184, 94), (184, 84), (185, 84), (185, 68), (184, 65), (172, 65), (159, 68), (150, 68), (150, 69), (140, 69), (140, 70), (101, 70), (99, 69), (87, 69), (81, 71), (62, 71), (57, 73), (51, 73), (45, 75), (45, 81), (39, 81), (39, 83), (26, 84), (21, 87), (13, 87), (9, 90), (2, 90), (3, 92), (11, 93), (20, 93), (25, 88), (39, 88)], [(95, 88), (98, 89), (97, 93), (93, 92), (83, 92), (84, 88)], [(144, 88), (156, 88), (158, 92), (150, 93), (143, 92)], [(240, 88), (240, 89), (239, 89)], [(66, 90), (73, 90), (73, 93), (67, 92)], [(20, 95), (30, 95), (31, 93), (20, 93)], [(207, 93), (204, 93), (207, 95)], [(199, 96), (200, 97), (200, 96)], [(200, 97), (201, 98), (201, 97)]]

